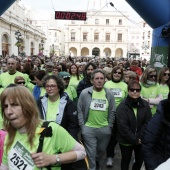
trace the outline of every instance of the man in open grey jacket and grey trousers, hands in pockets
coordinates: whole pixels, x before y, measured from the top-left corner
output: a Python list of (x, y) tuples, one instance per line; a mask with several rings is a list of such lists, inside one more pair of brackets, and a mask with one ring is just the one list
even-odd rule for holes
[(110, 140), (115, 120), (113, 93), (103, 87), (105, 74), (94, 70), (91, 75), (92, 87), (84, 89), (78, 100), (78, 119), (90, 170), (104, 165), (104, 155)]

